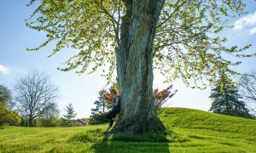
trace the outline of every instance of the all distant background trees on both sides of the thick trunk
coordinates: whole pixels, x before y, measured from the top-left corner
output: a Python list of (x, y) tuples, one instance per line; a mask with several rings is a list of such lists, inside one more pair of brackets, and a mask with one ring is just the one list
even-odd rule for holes
[[(212, 86), (210, 111), (229, 116), (255, 117), (256, 77), (254, 75), (255, 72), (251, 75), (242, 75), (236, 83), (223, 72)], [(94, 102), (96, 107), (91, 109), (90, 118), (75, 120), (77, 114), (72, 104), (66, 106), (66, 114), (60, 117), (60, 111), (56, 105), (58, 89), (49, 81), (47, 75), (32, 71), (18, 79), (14, 95), (9, 88), (0, 85), (0, 127), (4, 125), (73, 127), (108, 122), (105, 116), (112, 106), (106, 101), (112, 101), (113, 95), (110, 94), (112, 89), (119, 93), (115, 83), (108, 90), (102, 89), (98, 93), (98, 98)], [(162, 90), (154, 89), (156, 111), (160, 113), (160, 108), (176, 92), (177, 90), (172, 91), (172, 85)]]

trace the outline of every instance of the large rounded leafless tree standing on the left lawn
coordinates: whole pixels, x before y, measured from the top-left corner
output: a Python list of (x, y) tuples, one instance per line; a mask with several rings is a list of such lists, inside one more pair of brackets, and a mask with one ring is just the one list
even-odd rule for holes
[(29, 126), (32, 126), (35, 118), (43, 116), (55, 104), (57, 90), (44, 73), (32, 71), (20, 77), (15, 84), (15, 103), (21, 116), (28, 119)]

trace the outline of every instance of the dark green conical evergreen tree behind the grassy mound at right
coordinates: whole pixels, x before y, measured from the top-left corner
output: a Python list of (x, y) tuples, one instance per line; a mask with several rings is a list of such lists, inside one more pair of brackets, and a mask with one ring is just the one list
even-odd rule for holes
[(243, 101), (235, 83), (225, 74), (221, 75), (215, 88), (212, 88), (212, 106), (210, 111), (229, 116), (241, 116), (249, 118), (249, 110)]

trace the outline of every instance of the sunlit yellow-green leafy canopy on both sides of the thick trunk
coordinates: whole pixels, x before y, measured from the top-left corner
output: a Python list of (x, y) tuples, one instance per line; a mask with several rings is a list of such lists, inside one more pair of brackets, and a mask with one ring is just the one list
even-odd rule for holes
[[(130, 20), (127, 10), (131, 8), (127, 3), (131, 0), (32, 0), (28, 6), (33, 3), (38, 8), (26, 20), (26, 26), (46, 32), (48, 39), (38, 48), (28, 50), (56, 42), (53, 54), (67, 47), (79, 50), (61, 71), (91, 73), (102, 66), (102, 76), (113, 78), (114, 53), (125, 36), (122, 24)], [(165, 75), (166, 81), (182, 78), (189, 85), (193, 79), (196, 87), (214, 82), (221, 71), (237, 74), (232, 66), (241, 62), (222, 55), (253, 56), (241, 53), (250, 45), (227, 48), (227, 39), (218, 33), (230, 27), (227, 20), (242, 14), (243, 8), (241, 0), (166, 0), (154, 32), (154, 69)]]

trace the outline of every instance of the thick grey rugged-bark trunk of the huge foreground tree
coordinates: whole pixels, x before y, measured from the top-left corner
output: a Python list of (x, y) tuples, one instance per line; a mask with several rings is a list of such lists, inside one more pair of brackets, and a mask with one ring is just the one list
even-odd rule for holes
[(164, 0), (126, 0), (121, 47), (116, 49), (121, 114), (113, 133), (160, 133), (153, 101), (154, 31)]

